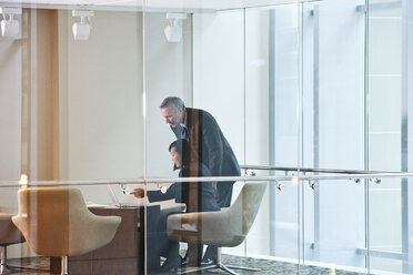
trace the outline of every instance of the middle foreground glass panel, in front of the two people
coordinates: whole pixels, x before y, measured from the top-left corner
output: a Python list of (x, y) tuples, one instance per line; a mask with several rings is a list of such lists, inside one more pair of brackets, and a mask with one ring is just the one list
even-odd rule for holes
[[(199, 7), (195, 4), (195, 12), (182, 7), (183, 12), (177, 13), (168, 8), (152, 10), (157, 7), (155, 1), (147, 1), (145, 4), (147, 176), (239, 176), (240, 164), (296, 167), (299, 6), (226, 10), (222, 9), (225, 3), (216, 7), (202, 3)], [(179, 35), (181, 32), (182, 37)], [(180, 39), (177, 37), (174, 40), (174, 34)], [(175, 105), (177, 102), (181, 103), (172, 99), (164, 101), (167, 96), (180, 98), (185, 108)], [(178, 123), (174, 119), (178, 119)], [(187, 136), (182, 135), (183, 129)], [(188, 140), (189, 156), (185, 155), (187, 145), (181, 149), (172, 143), (181, 138)], [(275, 142), (278, 138), (280, 140)], [(283, 141), (288, 144), (283, 145)], [(168, 150), (172, 151), (172, 162)], [(216, 154), (218, 151), (222, 152)], [(178, 161), (181, 167), (173, 172), (171, 167), (173, 163), (177, 164), (175, 154), (182, 163)], [(185, 157), (190, 159), (187, 164)], [(269, 175), (270, 172), (255, 174)], [(298, 251), (291, 248), (298, 247), (296, 184), (291, 185), (285, 194), (280, 193), (280, 196), (285, 196), (278, 202), (283, 207), (288, 205), (291, 211), (275, 215), (274, 197), (279, 193), (275, 193), (275, 184), (272, 182), (251, 231), (248, 235), (246, 232), (240, 233), (236, 236), (239, 242), (231, 243), (222, 241), (229, 237), (224, 234), (228, 230), (225, 226), (235, 226), (231, 230), (241, 231), (244, 225), (240, 222), (245, 222), (245, 217), (236, 213), (232, 216), (236, 220), (233, 224), (223, 225), (219, 221), (230, 213), (228, 211), (238, 207), (239, 200), (246, 200), (243, 190), (250, 182), (245, 184), (244, 181), (236, 181), (233, 186), (233, 180), (229, 183), (216, 182), (218, 192), (214, 192), (212, 184), (215, 197), (211, 197), (212, 180), (182, 184), (177, 181), (167, 184), (159, 179), (154, 184), (147, 184), (148, 190), (151, 190), (148, 191), (150, 202), (161, 200), (163, 187), (168, 194), (182, 186), (178, 194), (174, 191), (178, 198), (169, 198), (187, 205), (187, 214), (175, 213), (174, 208), (173, 215), (161, 211), (161, 216), (154, 217), (157, 213), (148, 212), (148, 221), (154, 221), (152, 225), (148, 223), (148, 271), (180, 266), (178, 249), (188, 266), (200, 266), (201, 259), (206, 263), (206, 258), (214, 262), (216, 253), (211, 251), (213, 247), (204, 246), (202, 252), (197, 243), (223, 246), (223, 263), (259, 266), (269, 272), (271, 265), (262, 265), (261, 259), (271, 262), (274, 256), (298, 258)], [(254, 184), (260, 186), (260, 182), (252, 182)], [(232, 195), (230, 193), (226, 202), (222, 202), (225, 186), (229, 190), (232, 187)], [(192, 189), (198, 191), (191, 193)], [(198, 205), (193, 205), (197, 200)], [(232, 206), (219, 212), (214, 205)], [(211, 216), (216, 218), (212, 240), (209, 220), (203, 217), (204, 213), (200, 213), (211, 211), (214, 211)], [(202, 227), (193, 220), (190, 220), (194, 223), (192, 225), (180, 220), (195, 218), (197, 215), (202, 217)], [(269, 215), (272, 220), (268, 218)], [(179, 228), (173, 227), (175, 223), (181, 223)], [(286, 242), (278, 232), (283, 230), (289, 234)], [(275, 240), (276, 234), (279, 240)], [(171, 238), (182, 242), (178, 246)], [(283, 248), (279, 248), (279, 255), (275, 254), (278, 242), (289, 247), (286, 254), (283, 254)]]

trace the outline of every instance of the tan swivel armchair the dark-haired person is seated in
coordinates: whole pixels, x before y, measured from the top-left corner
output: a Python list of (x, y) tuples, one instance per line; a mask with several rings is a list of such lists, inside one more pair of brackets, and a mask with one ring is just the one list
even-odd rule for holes
[(236, 201), (221, 212), (175, 214), (168, 217), (170, 238), (178, 242), (218, 246), (215, 265), (187, 271), (182, 274), (212, 268), (221, 268), (230, 274), (236, 274), (229, 267), (259, 271), (223, 265), (221, 247), (233, 247), (244, 241), (260, 208), (265, 187), (265, 182), (245, 183)]

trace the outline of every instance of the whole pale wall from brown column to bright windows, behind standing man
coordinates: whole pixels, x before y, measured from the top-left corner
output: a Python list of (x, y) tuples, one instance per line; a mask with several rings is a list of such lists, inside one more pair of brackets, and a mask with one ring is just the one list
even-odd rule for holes
[[(67, 11), (59, 20), (62, 179), (175, 176), (159, 105), (168, 95), (191, 105), (191, 17), (170, 43), (165, 13), (145, 16), (145, 116), (141, 13), (95, 12), (88, 41), (73, 40)], [(104, 186), (82, 190), (87, 201), (109, 200)]]

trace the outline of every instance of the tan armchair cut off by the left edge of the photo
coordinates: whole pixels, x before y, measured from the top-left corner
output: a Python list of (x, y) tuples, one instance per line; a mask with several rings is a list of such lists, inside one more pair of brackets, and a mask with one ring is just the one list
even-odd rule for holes
[(20, 231), (11, 222), (13, 214), (0, 213), (0, 274), (8, 274), (19, 269), (18, 267), (9, 266), (7, 263), (7, 247), (11, 244), (24, 243), (26, 240)]

